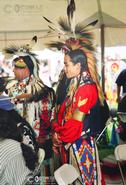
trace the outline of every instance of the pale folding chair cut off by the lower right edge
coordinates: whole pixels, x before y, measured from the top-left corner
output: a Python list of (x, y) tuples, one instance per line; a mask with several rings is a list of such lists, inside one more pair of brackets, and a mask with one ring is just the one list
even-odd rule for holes
[(120, 164), (121, 161), (126, 161), (126, 144), (121, 144), (121, 145), (116, 146), (114, 153), (115, 153), (115, 158), (116, 158), (117, 164), (119, 166), (123, 185), (126, 185), (123, 170), (122, 170), (121, 164)]

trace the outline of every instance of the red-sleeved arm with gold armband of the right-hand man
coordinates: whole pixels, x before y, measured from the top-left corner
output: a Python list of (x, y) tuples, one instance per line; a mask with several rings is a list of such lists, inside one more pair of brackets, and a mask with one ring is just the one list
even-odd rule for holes
[(54, 125), (54, 130), (59, 135), (60, 141), (72, 143), (81, 136), (84, 117), (96, 103), (97, 98), (95, 85), (88, 84), (79, 88), (74, 97), (76, 103), (72, 117), (63, 126), (59, 126), (58, 123)]

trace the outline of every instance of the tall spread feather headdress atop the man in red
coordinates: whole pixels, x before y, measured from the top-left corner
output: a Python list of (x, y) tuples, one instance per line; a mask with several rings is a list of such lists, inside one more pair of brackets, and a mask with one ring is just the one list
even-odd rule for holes
[(50, 29), (53, 31), (58, 31), (61, 34), (61, 42), (51, 42), (46, 44), (48, 47), (57, 48), (58, 50), (68, 48), (77, 49), (81, 48), (83, 50), (94, 51), (93, 47), (93, 34), (90, 28), (95, 26), (98, 20), (92, 21), (89, 24), (84, 24), (84, 22), (73, 24), (74, 12), (76, 10), (74, 0), (70, 0), (67, 6), (67, 17), (60, 17), (58, 20), (58, 27), (52, 23), (49, 19), (44, 19), (51, 24)]

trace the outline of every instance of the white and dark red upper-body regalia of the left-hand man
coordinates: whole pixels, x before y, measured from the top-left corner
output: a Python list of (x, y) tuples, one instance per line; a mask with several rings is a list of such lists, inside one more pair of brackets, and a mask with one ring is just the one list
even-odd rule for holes
[[(24, 93), (31, 93), (32, 76), (15, 84), (8, 89), (10, 97), (16, 97)], [(29, 99), (21, 99), (14, 102), (15, 109), (32, 126), (40, 143), (43, 138), (49, 137), (51, 127), (51, 111), (53, 106), (54, 92), (52, 88), (44, 86), (41, 92), (37, 92)]]

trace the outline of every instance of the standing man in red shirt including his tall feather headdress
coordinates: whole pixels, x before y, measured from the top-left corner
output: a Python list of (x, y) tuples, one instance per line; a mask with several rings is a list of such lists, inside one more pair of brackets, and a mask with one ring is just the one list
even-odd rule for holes
[[(88, 30), (97, 20), (87, 26), (82, 23), (74, 25), (75, 9), (74, 0), (71, 0), (67, 7), (68, 20), (60, 18), (59, 27), (44, 17), (51, 24), (49, 28), (62, 39), (48, 46), (63, 50), (65, 65), (56, 94), (53, 150), (56, 154), (60, 153), (63, 163), (70, 163), (78, 169), (80, 179), (75, 184), (100, 185), (104, 182), (101, 180), (98, 153), (89, 125), (86, 125), (91, 109), (98, 101), (103, 106), (105, 100), (96, 69), (93, 36)], [(62, 86), (66, 86), (64, 96), (60, 95)]]

